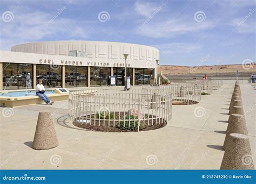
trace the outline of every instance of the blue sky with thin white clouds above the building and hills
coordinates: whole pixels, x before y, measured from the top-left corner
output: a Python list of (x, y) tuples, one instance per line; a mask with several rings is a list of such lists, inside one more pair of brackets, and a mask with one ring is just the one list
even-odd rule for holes
[(255, 62), (255, 0), (1, 0), (0, 49), (97, 40), (160, 50), (160, 65)]

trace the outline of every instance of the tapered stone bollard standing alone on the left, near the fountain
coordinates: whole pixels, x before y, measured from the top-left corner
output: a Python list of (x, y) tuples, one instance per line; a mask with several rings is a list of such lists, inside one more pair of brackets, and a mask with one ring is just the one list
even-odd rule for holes
[(58, 146), (58, 139), (51, 112), (39, 112), (32, 148), (47, 150)]

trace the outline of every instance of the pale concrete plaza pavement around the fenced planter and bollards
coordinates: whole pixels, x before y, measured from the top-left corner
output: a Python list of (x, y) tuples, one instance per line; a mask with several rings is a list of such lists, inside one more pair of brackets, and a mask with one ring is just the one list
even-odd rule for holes
[[(224, 84), (194, 105), (173, 105), (172, 120), (143, 132), (95, 132), (68, 123), (68, 102), (12, 109), (0, 123), (1, 169), (219, 169), (234, 84)], [(255, 91), (241, 84), (252, 155), (255, 154)], [(6, 109), (5, 109), (6, 110)], [(50, 110), (59, 146), (31, 148), (38, 112)], [(254, 159), (255, 160), (255, 159)]]

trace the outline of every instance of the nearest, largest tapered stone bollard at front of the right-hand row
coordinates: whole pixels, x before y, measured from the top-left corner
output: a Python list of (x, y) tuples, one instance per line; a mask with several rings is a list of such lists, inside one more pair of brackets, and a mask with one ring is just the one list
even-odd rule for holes
[(254, 169), (248, 136), (231, 133), (220, 169)]

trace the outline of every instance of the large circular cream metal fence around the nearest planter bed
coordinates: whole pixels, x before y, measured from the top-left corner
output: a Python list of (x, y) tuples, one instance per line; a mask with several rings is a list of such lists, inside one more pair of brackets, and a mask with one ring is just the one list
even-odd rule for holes
[(151, 130), (170, 121), (170, 91), (142, 89), (130, 91), (98, 90), (69, 93), (69, 121), (84, 127), (114, 128), (124, 131)]

